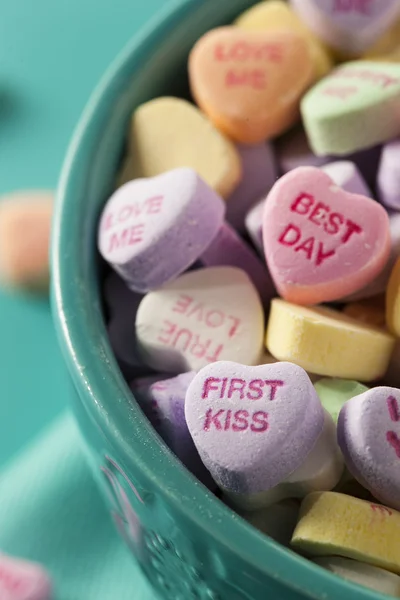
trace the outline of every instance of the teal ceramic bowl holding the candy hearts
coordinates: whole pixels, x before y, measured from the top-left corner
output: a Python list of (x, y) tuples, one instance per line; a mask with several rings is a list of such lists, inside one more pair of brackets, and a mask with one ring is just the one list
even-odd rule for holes
[(258, 533), (198, 483), (132, 399), (107, 340), (96, 228), (130, 114), (150, 98), (185, 93), (194, 42), (251, 4), (169, 3), (93, 94), (60, 182), (52, 240), (54, 318), (93, 473), (116, 528), (161, 598), (376, 600), (379, 595), (337, 579)]

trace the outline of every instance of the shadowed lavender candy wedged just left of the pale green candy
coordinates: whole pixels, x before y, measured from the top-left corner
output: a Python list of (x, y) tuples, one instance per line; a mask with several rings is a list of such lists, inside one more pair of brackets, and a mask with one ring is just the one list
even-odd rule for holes
[(328, 156), (317, 156), (308, 143), (302, 127), (297, 127), (276, 142), (276, 155), (282, 174), (297, 167), (322, 167), (330, 161)]

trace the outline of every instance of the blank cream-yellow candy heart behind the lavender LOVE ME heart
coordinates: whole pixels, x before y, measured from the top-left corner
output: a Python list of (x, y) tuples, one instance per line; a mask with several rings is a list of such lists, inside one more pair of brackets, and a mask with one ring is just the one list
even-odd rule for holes
[(234, 144), (181, 98), (156, 98), (135, 110), (128, 156), (130, 179), (190, 167), (223, 198), (231, 195), (241, 178)]

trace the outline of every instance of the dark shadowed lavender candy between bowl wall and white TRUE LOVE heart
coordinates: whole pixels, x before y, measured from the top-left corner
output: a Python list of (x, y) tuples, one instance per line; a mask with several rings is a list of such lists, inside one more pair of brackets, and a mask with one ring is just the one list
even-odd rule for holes
[(119, 368), (126, 379), (150, 373), (142, 360), (136, 337), (136, 313), (143, 296), (130, 290), (117, 273), (104, 282), (104, 300), (110, 313), (108, 338)]

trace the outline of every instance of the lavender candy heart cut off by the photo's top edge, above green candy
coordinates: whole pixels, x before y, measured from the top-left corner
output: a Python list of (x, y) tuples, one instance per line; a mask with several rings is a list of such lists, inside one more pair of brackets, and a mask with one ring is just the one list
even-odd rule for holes
[(322, 40), (361, 54), (400, 14), (398, 0), (290, 0), (297, 14)]

